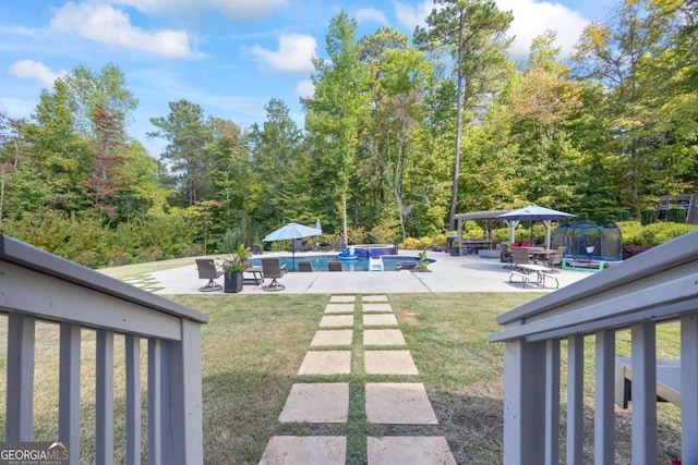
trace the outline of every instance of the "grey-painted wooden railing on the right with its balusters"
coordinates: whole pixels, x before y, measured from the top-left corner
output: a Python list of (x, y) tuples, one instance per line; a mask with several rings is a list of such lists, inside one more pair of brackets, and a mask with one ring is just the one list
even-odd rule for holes
[[(569, 271), (567, 271), (569, 272)], [(698, 232), (501, 315), (504, 463), (557, 464), (561, 341), (567, 341), (566, 463), (583, 462), (583, 338), (595, 338), (595, 464), (614, 463), (616, 331), (630, 329), (634, 465), (658, 463), (655, 326), (681, 321), (682, 463), (698, 464)]]

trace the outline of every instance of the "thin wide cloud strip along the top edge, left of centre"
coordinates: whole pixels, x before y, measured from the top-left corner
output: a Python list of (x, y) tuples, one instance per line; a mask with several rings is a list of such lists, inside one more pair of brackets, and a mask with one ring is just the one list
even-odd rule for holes
[(186, 10), (218, 10), (233, 20), (256, 20), (264, 17), (274, 8), (286, 4), (287, 0), (108, 0), (115, 4), (125, 4), (148, 14)]

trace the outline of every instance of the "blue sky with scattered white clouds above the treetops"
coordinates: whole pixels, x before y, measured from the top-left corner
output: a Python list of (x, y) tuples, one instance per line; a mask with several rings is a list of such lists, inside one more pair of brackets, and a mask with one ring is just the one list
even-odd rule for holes
[[(615, 1), (495, 0), (514, 13), (513, 59), (526, 59), (531, 40), (557, 32), (563, 54), (581, 30), (603, 20)], [(388, 26), (411, 37), (432, 0), (4, 0), (0, 2), (0, 112), (31, 118), (43, 89), (83, 64), (108, 63), (124, 74), (139, 100), (128, 127), (151, 155), (151, 118), (185, 99), (206, 117), (245, 130), (266, 119), (273, 98), (289, 107), (300, 127), (299, 99), (312, 96), (312, 57), (324, 59), (329, 20), (340, 11), (358, 22), (357, 36)]]

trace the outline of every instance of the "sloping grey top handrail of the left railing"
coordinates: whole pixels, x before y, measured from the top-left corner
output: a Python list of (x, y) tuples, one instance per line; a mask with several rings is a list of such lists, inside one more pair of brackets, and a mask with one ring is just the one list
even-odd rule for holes
[(171, 316), (200, 323), (208, 322), (206, 314), (134, 287), (4, 234), (0, 234), (0, 261), (2, 260)]

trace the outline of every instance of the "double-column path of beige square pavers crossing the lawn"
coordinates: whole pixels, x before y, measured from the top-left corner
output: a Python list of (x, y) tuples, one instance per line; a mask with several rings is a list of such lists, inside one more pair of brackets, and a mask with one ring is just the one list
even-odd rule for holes
[[(362, 327), (354, 327), (361, 321)], [(421, 382), (419, 370), (385, 295), (361, 298), (360, 311), (353, 295), (334, 295), (325, 308), (310, 350), (298, 371), (299, 382), (291, 387), (279, 416), (281, 424), (332, 425), (349, 421), (351, 399), (349, 382), (338, 381), (352, 369), (359, 375), (398, 377), (395, 382), (364, 383), (362, 402), (366, 421), (380, 425), (438, 425), (434, 408)], [(356, 330), (356, 334), (354, 334)], [(368, 348), (366, 348), (368, 347)], [(354, 364), (352, 353), (362, 354), (363, 364)], [(303, 382), (303, 377), (329, 376), (327, 382)], [(354, 408), (357, 406), (354, 405)], [(312, 435), (312, 433), (311, 433)], [(345, 436), (274, 436), (260, 465), (347, 463)], [(456, 461), (442, 436), (366, 437), (368, 465), (455, 465)]]

